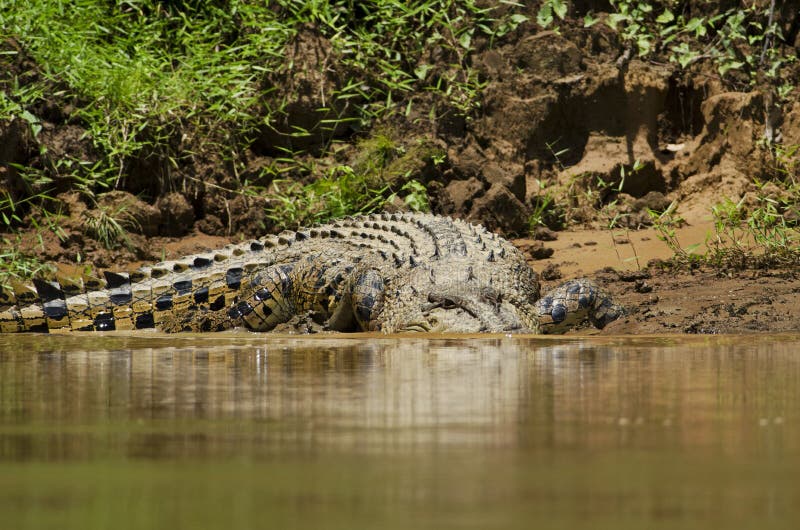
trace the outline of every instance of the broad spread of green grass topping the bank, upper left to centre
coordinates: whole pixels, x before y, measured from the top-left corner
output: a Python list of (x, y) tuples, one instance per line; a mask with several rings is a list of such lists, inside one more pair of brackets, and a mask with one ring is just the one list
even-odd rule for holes
[[(59, 87), (56, 95), (75, 102), (70, 118), (86, 127), (100, 159), (60, 162), (51, 171), (95, 192), (124, 189), (134, 156), (174, 167), (223, 142), (241, 149), (261, 128), (281, 123), (287, 94), (267, 84), (285, 68), (284, 50), (304, 28), (329, 39), (332, 60), (347, 72), (330, 106), (353, 111), (316, 125), (333, 131), (343, 122), (363, 126), (407, 111), (413, 101), (395, 102), (412, 91), (434, 92), (450, 106), (446, 111), (469, 113), (480, 89), (468, 64), (472, 39), (501, 36), (523, 20), (495, 20), (492, 9), (472, 0), (0, 0), (0, 37), (19, 41), (41, 74), (25, 86), (7, 81), (0, 120), (22, 120), (36, 136), (40, 118), (31, 109), (43, 102), (45, 86)], [(451, 57), (450, 69), (426, 62), (434, 46)], [(282, 131), (314, 133), (299, 126)], [(192, 152), (176, 148), (186, 134), (202, 140)], [(236, 149), (229, 156), (236, 162)], [(161, 173), (169, 179), (171, 172)], [(160, 189), (178, 184), (167, 180)]]

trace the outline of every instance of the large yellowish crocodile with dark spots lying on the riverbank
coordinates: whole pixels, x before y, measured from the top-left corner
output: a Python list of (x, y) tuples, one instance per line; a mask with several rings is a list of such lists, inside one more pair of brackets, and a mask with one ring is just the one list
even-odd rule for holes
[(540, 293), (508, 240), (480, 225), (384, 213), (231, 244), (105, 281), (33, 280), (0, 292), (0, 332), (558, 333), (624, 309), (578, 279)]

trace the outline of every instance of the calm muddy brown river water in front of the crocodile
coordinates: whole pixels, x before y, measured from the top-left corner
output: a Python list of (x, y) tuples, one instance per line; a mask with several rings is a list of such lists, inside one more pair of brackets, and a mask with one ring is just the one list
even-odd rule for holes
[(3, 528), (800, 525), (800, 336), (0, 336)]

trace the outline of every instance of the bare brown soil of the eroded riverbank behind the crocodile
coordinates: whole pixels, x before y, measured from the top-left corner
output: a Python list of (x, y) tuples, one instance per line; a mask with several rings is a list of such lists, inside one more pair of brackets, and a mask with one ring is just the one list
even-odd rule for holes
[[(604, 333), (800, 330), (800, 282), (793, 274), (727, 276), (654, 267), (642, 272), (651, 259), (669, 256), (646, 228), (646, 209), (663, 210), (677, 201), (688, 221), (682, 243), (702, 242), (711, 204), (723, 197), (747, 203), (756, 191), (754, 178), (774, 174), (774, 161), (761, 142), (766, 116), (783, 143), (800, 144), (800, 102), (771, 107), (763, 89), (733, 91), (703, 62), (681, 71), (666, 61), (621, 60), (624, 46), (607, 26), (583, 28), (576, 18), (559, 33), (542, 31), (533, 22), (538, 3), (527, 9), (531, 22), (491, 48), (478, 43), (473, 64), (487, 86), (472, 115), (459, 117), (421, 93), (410, 96), (415, 104), (407, 117), (394, 114), (390, 122), (376, 124), (394, 130), (406, 151), (424, 141), (446, 152), (443, 164), (411, 163), (399, 174), (427, 186), (436, 213), (483, 223), (509, 237), (527, 235), (537, 205), (552, 199), (545, 222), (570, 230), (556, 232), (554, 241), (517, 243), (547, 282), (559, 275), (595, 277), (630, 308), (628, 318)], [(787, 28), (790, 41), (798, 39), (792, 28)], [(0, 55), (5, 72), (0, 81), (39, 79), (35, 62), (18, 43), (0, 43), (0, 49), (18, 52)], [(306, 150), (319, 157), (315, 164), (322, 169), (334, 162), (359, 163), (363, 133), (337, 129), (305, 138), (303, 145), (286, 143), (292, 141), (286, 131), (295, 127), (322, 130), (327, 116), (317, 111), (323, 105), (319, 94), (335, 92), (348, 79), (335, 68), (329, 41), (313, 28), (300, 32), (287, 54), (287, 64), (302, 68), (264, 80), (270, 85), (288, 80), (281, 94), (288, 102), (285, 123), (262, 131), (243, 150), (242, 181), (268, 186), (260, 168), (273, 164), (283, 148)], [(440, 58), (437, 68), (448, 68), (447, 60)], [(796, 81), (800, 66), (794, 68), (786, 77)], [(21, 197), (18, 165), (47, 171), (57, 159), (67, 165), (99, 159), (88, 131), (72, 117), (75, 104), (54, 97), (32, 109), (42, 118), (36, 138), (19, 120), (0, 121), (0, 191)], [(438, 112), (434, 119), (432, 108)], [(23, 249), (65, 266), (82, 261), (122, 268), (281, 230), (265, 217), (262, 203), (236, 192), (239, 181), (220, 153), (192, 143), (195, 133), (180, 135), (170, 152), (142, 153), (128, 161), (120, 189), (96, 203), (70, 191), (72, 183), (56, 175), (60, 194), (54, 203), (66, 216), (65, 237), (45, 234), (40, 241), (31, 230)], [(331, 135), (341, 147), (324, 153)], [(175, 159), (177, 168), (171, 165)], [(635, 165), (640, 169), (633, 171)], [(601, 181), (606, 185), (598, 186)], [(86, 219), (120, 204), (129, 241), (106, 250), (87, 230)], [(47, 205), (51, 211), (53, 206)], [(28, 215), (26, 222), (37, 210)], [(628, 230), (598, 230), (608, 216)]]

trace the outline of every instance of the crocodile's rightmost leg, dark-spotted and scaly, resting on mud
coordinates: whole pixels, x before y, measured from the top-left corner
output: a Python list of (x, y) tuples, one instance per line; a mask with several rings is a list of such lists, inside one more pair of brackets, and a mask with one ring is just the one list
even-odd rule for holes
[(591, 280), (569, 280), (544, 293), (536, 301), (541, 333), (564, 333), (588, 320), (603, 328), (625, 314), (611, 296)]

